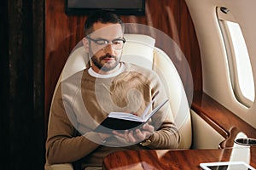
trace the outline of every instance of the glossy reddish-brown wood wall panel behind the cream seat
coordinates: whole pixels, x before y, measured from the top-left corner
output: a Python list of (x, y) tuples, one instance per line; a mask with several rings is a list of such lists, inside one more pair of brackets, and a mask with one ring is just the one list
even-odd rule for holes
[[(64, 0), (45, 0), (45, 118), (55, 83), (68, 54), (83, 34), (86, 16), (67, 16)], [(173, 60), (187, 94), (201, 90), (201, 58), (195, 30), (189, 11), (183, 0), (146, 0), (144, 16), (121, 16), (125, 23), (139, 23), (163, 31), (177, 43), (189, 62), (194, 84), (189, 80), (190, 70), (184, 69), (186, 62)], [(164, 47), (170, 48), (170, 47)], [(194, 86), (194, 88), (193, 88)]]

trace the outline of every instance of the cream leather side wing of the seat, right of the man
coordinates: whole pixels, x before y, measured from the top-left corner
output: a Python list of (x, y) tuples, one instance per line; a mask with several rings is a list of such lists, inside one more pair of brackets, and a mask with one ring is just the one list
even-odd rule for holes
[(183, 82), (172, 60), (159, 48), (154, 48), (154, 71), (158, 73), (172, 108), (175, 123), (181, 134), (180, 149), (189, 149), (192, 144), (192, 124), (190, 109)]

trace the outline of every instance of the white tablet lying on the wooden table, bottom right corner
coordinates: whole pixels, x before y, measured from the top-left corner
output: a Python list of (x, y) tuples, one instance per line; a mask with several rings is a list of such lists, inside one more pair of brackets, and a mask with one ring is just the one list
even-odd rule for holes
[(218, 161), (200, 164), (203, 170), (255, 170), (244, 161)]

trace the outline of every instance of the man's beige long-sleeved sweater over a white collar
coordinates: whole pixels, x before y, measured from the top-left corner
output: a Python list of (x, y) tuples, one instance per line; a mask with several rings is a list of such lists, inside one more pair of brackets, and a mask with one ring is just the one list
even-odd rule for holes
[(91, 77), (86, 69), (61, 82), (50, 110), (47, 163), (82, 159), (85, 166), (101, 165), (104, 156), (117, 150), (176, 149), (179, 133), (170, 105), (164, 105), (152, 117), (150, 123), (156, 131), (147, 147), (125, 144), (115, 136), (105, 142), (92, 132), (111, 111), (135, 111), (141, 115), (158, 91), (154, 105), (166, 99), (160, 78), (154, 71), (127, 63), (125, 71), (117, 77)]

